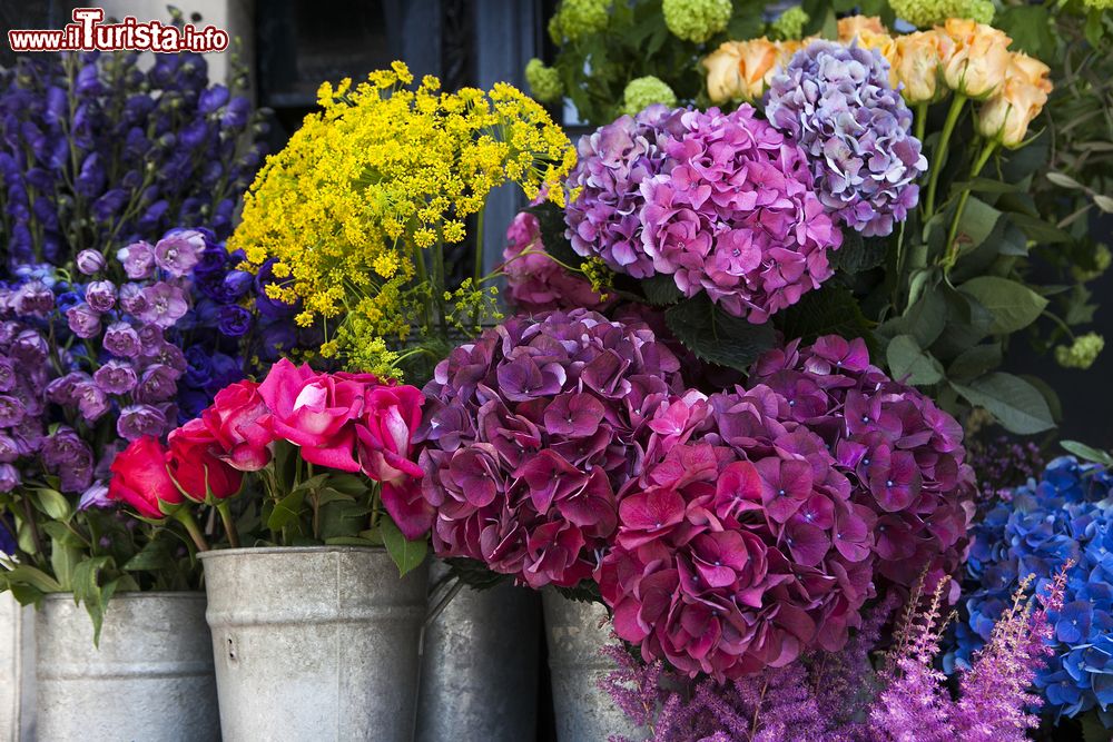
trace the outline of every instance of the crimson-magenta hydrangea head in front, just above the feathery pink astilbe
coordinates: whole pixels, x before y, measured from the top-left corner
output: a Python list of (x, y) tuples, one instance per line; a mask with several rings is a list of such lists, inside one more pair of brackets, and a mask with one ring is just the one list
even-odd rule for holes
[(647, 662), (718, 680), (841, 649), (873, 595), (874, 513), (767, 386), (658, 407), (597, 572)]

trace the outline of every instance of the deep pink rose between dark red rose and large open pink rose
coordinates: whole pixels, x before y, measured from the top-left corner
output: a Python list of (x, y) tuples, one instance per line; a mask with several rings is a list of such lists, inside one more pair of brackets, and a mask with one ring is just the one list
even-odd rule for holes
[(259, 385), (238, 382), (217, 392), (201, 419), (223, 451), (221, 461), (240, 472), (258, 472), (270, 463), (274, 434), (263, 419), (268, 413)]

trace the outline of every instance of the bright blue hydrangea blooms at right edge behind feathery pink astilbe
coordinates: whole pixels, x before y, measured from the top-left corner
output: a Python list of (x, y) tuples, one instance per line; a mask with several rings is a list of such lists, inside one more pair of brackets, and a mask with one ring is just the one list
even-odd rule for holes
[(1036, 679), (1047, 710), (1076, 716), (1097, 709), (1113, 726), (1113, 472), (1056, 458), (975, 526), (967, 561), (972, 582), (948, 669), (968, 666), (1021, 578), (1042, 590), (1067, 560), (1063, 609), (1048, 615), (1055, 655)]

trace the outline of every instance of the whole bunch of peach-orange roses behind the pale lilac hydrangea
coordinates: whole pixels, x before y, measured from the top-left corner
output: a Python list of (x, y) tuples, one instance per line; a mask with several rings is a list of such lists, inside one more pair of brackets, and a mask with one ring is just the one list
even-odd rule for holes
[[(713, 103), (754, 101), (800, 48), (815, 40), (727, 41), (702, 60)], [(1017, 147), (1047, 102), (1052, 86), (1046, 65), (1018, 51), (998, 29), (952, 18), (927, 31), (893, 36), (879, 18), (838, 21), (838, 40), (874, 49), (889, 63), (889, 81), (909, 105), (935, 102), (948, 92), (985, 101), (978, 130), (1006, 147)]]

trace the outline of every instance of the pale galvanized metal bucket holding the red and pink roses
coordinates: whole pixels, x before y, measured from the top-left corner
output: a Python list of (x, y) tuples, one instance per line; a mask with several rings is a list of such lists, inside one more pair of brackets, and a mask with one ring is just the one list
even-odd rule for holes
[(225, 742), (408, 742), (427, 567), (385, 550), (201, 554)]

